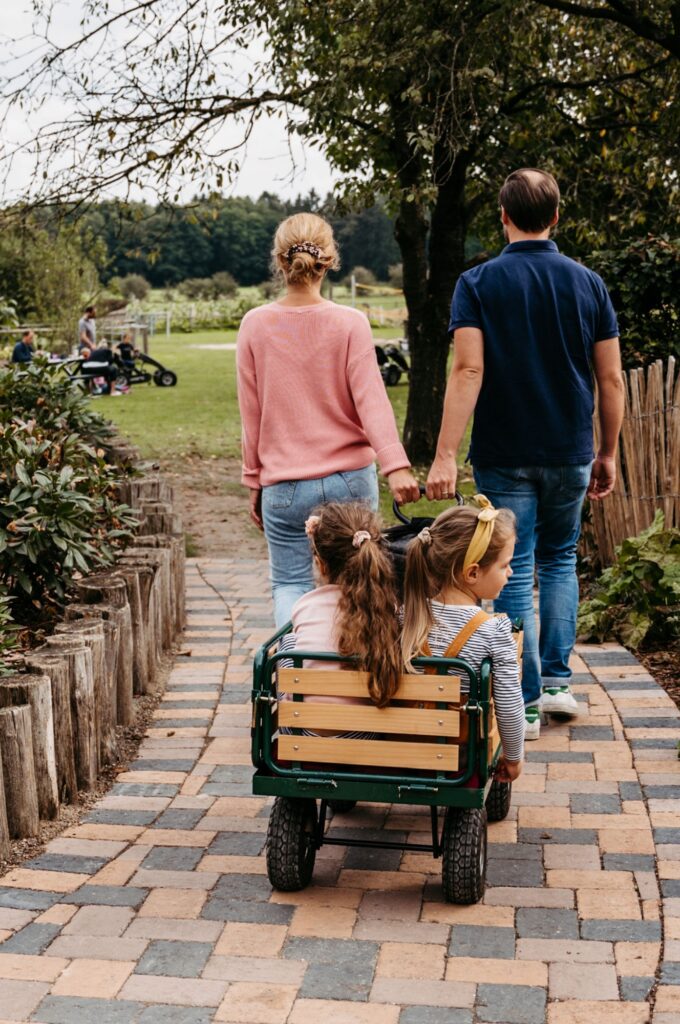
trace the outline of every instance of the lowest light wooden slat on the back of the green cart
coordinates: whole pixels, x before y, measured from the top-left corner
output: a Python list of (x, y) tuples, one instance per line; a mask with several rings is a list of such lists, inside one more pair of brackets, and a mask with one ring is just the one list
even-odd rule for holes
[(372, 768), (458, 770), (458, 746), (453, 743), (280, 736), (279, 757), (284, 761), (311, 761), (318, 764), (362, 765)]

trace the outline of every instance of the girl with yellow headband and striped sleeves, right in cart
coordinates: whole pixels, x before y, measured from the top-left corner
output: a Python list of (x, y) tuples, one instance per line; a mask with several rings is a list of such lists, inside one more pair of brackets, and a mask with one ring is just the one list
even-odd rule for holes
[[(510, 620), (480, 611), (512, 574), (515, 517), (483, 495), (479, 509), (455, 506), (422, 529), (407, 552), (401, 651), (407, 671), (418, 654), (443, 656), (456, 639), (458, 654), (477, 671), (493, 658), (493, 688), (503, 755), (496, 777), (511, 782), (521, 771), (524, 703)], [(474, 620), (474, 621), (473, 621)]]

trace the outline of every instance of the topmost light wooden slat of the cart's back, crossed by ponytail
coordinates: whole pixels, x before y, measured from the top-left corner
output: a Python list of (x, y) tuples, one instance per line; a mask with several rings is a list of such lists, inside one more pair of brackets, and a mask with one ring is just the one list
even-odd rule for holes
[[(369, 692), (367, 672), (343, 672), (338, 669), (280, 669), (279, 690), (284, 693), (315, 694), (334, 697), (366, 697)], [(299, 680), (296, 682), (295, 680)], [(457, 703), (461, 695), (458, 676), (402, 676), (395, 700), (443, 700)]]

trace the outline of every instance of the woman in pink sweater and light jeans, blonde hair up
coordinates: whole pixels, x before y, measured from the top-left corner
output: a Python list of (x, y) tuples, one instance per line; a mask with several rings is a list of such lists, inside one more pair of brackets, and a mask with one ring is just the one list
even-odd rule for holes
[(277, 626), (313, 589), (304, 523), (326, 502), (378, 507), (374, 460), (399, 503), (418, 481), (399, 441), (364, 313), (323, 299), (339, 266), (331, 225), (311, 213), (288, 217), (274, 237), (278, 302), (251, 309), (239, 331), (243, 483), (253, 522), (269, 548)]

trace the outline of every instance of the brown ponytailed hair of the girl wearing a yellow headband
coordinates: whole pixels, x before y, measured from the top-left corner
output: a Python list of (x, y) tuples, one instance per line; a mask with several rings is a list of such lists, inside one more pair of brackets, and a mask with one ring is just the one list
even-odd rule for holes
[[(412, 658), (423, 652), (427, 634), (434, 626), (432, 598), (450, 583), (461, 586), (459, 578), (477, 526), (478, 512), (479, 509), (469, 505), (445, 509), (424, 539), (416, 537), (407, 549), (401, 629), (401, 655), (407, 671), (412, 668)], [(478, 562), (479, 568), (492, 565), (514, 536), (513, 513), (510, 509), (499, 509), (488, 547)]]

